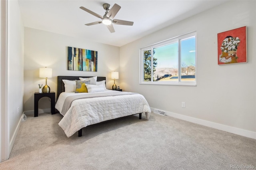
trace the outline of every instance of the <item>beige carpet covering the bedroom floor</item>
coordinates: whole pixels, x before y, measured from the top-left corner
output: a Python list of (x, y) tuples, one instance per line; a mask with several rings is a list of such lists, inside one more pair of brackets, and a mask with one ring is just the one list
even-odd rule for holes
[[(28, 117), (1, 170), (230, 170), (256, 168), (256, 140), (151, 113), (116, 119), (67, 138), (62, 115)], [(232, 169), (232, 168), (231, 168)]]

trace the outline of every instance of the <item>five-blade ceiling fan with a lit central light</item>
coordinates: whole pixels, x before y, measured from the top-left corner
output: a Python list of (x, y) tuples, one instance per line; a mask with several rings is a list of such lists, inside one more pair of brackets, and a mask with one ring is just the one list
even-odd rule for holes
[(116, 16), (116, 14), (118, 13), (118, 11), (121, 8), (121, 6), (119, 6), (118, 4), (114, 4), (114, 6), (111, 9), (110, 9), (110, 4), (103, 4), (104, 10), (106, 10), (104, 16), (100, 16), (99, 14), (96, 14), (95, 12), (92, 12), (91, 10), (88, 10), (87, 8), (84, 8), (83, 6), (81, 6), (80, 8), (102, 20), (102, 21), (96, 21), (96, 22), (91, 22), (91, 23), (85, 24), (86, 26), (92, 26), (92, 25), (95, 25), (95, 24), (103, 23), (107, 26), (108, 30), (111, 33), (113, 33), (113, 32), (115, 32), (113, 24), (126, 25), (126, 26), (132, 26), (133, 25), (133, 22), (131, 22), (131, 21), (114, 19), (114, 17)]

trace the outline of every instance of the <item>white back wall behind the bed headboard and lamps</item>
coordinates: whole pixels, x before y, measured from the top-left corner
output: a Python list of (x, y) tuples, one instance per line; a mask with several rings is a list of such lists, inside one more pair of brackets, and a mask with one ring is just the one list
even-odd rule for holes
[[(102, 76), (106, 77), (107, 88), (112, 88), (114, 81), (110, 79), (110, 72), (119, 71), (119, 47), (26, 27), (24, 42), (24, 111), (33, 114), (34, 93), (38, 92), (39, 83), (45, 85), (45, 79), (39, 78), (40, 67), (52, 68), (52, 78), (47, 80), (47, 84), (56, 94), (58, 75)], [(98, 51), (98, 71), (68, 71), (68, 46)], [(38, 107), (42, 109), (39, 113), (47, 111), (49, 99), (40, 99)]]

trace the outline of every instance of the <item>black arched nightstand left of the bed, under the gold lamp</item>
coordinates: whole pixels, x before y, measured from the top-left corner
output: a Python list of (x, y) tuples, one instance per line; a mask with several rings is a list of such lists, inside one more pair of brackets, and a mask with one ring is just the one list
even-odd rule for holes
[(42, 97), (49, 97), (51, 99), (51, 113), (55, 114), (55, 92), (50, 93), (35, 93), (34, 94), (34, 117), (38, 117), (38, 101)]

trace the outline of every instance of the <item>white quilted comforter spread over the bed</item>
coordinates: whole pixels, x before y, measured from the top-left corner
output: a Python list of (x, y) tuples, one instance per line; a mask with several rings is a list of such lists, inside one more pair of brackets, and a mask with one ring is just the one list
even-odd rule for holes
[[(105, 90), (104, 92), (98, 93), (110, 92), (113, 91)], [(85, 93), (61, 93), (55, 108), (61, 113), (66, 97), (82, 94)], [(134, 115), (136, 113), (146, 113), (146, 119), (148, 119), (150, 112), (150, 107), (144, 96), (137, 93), (132, 95), (77, 99), (72, 102), (66, 114), (61, 113), (64, 117), (59, 122), (59, 125), (66, 135), (70, 137), (88, 125)]]

